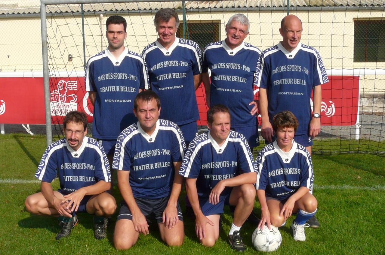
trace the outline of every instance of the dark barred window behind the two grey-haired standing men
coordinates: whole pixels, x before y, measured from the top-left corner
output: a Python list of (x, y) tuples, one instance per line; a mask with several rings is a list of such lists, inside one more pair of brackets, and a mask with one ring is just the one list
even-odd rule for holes
[[(189, 20), (187, 21), (188, 39), (198, 43), (199, 47), (203, 51), (206, 45), (214, 41), (220, 40), (219, 27), (221, 25), (220, 20)], [(183, 23), (179, 25), (176, 36), (179, 38), (187, 39), (187, 31), (183, 36)]]

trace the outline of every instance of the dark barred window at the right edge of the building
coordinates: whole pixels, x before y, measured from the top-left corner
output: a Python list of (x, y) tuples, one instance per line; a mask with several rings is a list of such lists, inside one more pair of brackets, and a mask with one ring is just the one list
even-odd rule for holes
[(385, 62), (385, 20), (354, 21), (354, 62)]

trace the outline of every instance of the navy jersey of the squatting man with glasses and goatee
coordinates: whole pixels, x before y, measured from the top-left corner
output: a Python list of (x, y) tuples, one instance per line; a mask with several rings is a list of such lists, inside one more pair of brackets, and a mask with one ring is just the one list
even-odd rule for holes
[(65, 138), (51, 144), (44, 152), (35, 177), (43, 182), (52, 182), (59, 171), (62, 194), (69, 194), (99, 180), (111, 181), (110, 166), (104, 149), (90, 137), (85, 136), (77, 151)]

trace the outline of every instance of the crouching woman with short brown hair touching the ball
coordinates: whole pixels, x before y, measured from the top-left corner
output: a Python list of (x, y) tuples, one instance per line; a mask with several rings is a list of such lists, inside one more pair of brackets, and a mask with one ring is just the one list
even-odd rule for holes
[[(276, 141), (266, 145), (258, 154), (256, 166), (257, 196), (261, 204), (261, 221), (281, 227), (292, 213), (298, 212), (290, 229), (294, 240), (305, 241), (306, 221), (315, 215), (317, 200), (313, 189), (313, 164), (310, 153), (293, 137), (298, 120), (290, 111), (277, 113), (273, 118)], [(308, 225), (307, 225), (308, 226)]]

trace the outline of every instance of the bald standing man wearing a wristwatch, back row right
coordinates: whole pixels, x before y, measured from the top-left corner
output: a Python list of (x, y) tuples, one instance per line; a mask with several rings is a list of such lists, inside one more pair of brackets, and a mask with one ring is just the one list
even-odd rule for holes
[[(302, 22), (295, 15), (281, 21), (282, 41), (263, 51), (258, 61), (259, 73), (254, 83), (259, 87), (261, 133), (266, 142), (274, 141), (271, 123), (281, 111), (291, 111), (298, 119), (295, 141), (311, 154), (312, 139), (321, 131), (321, 84), (327, 83), (325, 66), (320, 53), (313, 47), (300, 43)], [(313, 91), (313, 114), (310, 97)], [(312, 193), (312, 189), (310, 189)], [(319, 226), (315, 217), (310, 227)]]

